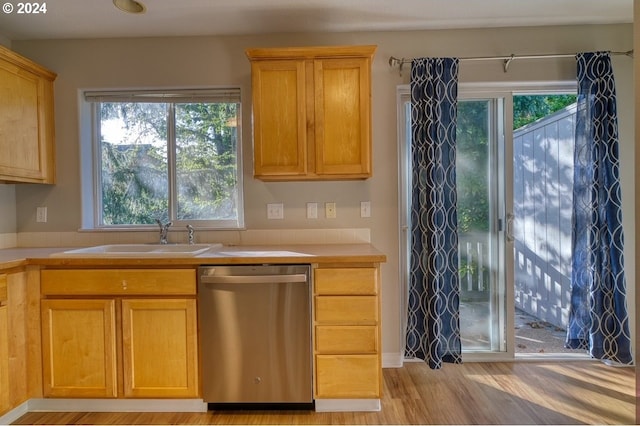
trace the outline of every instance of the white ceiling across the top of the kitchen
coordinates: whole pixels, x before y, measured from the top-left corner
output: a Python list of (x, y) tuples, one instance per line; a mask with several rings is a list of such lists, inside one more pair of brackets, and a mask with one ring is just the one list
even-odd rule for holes
[(402, 31), (630, 23), (633, 0), (37, 0), (46, 13), (0, 12), (9, 40)]

